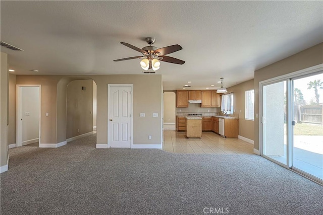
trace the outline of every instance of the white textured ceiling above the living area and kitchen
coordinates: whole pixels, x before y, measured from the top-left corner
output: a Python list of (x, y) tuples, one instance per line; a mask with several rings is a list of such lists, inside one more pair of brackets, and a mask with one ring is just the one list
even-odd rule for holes
[[(161, 62), (164, 90), (230, 87), (254, 70), (323, 41), (322, 1), (1, 1), (1, 41), (14, 74), (142, 74), (139, 48), (155, 37), (183, 65)], [(35, 73), (31, 69), (38, 69)]]

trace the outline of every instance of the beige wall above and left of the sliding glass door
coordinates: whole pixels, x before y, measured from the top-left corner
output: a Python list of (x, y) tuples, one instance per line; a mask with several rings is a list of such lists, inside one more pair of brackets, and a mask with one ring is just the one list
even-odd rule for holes
[[(323, 63), (323, 43), (258, 69), (254, 73), (255, 114), (259, 114), (259, 82)], [(259, 150), (259, 118), (255, 118), (254, 148)]]

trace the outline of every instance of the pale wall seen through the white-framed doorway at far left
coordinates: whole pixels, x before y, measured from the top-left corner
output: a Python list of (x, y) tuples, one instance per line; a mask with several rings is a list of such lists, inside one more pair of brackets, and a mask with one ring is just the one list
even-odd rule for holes
[[(21, 141), (22, 145), (38, 142), (39, 137), (39, 87), (21, 88)], [(26, 113), (29, 113), (27, 116)], [(34, 140), (34, 141), (30, 141)]]

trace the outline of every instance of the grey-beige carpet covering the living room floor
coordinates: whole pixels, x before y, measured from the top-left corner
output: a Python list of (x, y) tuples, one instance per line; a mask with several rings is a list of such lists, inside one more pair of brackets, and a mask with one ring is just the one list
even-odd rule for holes
[(322, 186), (257, 155), (95, 149), (95, 141), (11, 149), (1, 214), (323, 214)]

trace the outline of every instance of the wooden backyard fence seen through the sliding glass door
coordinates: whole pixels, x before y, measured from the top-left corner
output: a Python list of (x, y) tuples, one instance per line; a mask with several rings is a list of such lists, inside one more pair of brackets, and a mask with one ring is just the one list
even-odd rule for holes
[(298, 122), (322, 124), (323, 105), (297, 105), (294, 107), (294, 120)]

